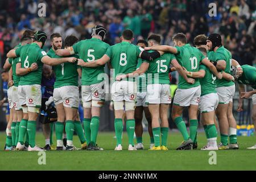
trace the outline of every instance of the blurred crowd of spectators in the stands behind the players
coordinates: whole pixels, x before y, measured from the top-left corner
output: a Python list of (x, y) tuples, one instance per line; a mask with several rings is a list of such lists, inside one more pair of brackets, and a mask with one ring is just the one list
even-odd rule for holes
[[(209, 3), (216, 3), (216, 16), (209, 16)], [(46, 4), (46, 17), (39, 18), (39, 3)], [(19, 43), (24, 29), (60, 32), (63, 38), (90, 38), (95, 24), (108, 29), (105, 42), (118, 43), (123, 29), (134, 31), (135, 41), (150, 32), (162, 35), (162, 43), (173, 45), (177, 32), (190, 43), (198, 34), (220, 32), (223, 43), (241, 64), (254, 64), (256, 41), (255, 0), (1, 0), (0, 56)], [(49, 40), (45, 49), (49, 49)], [(2, 61), (3, 64), (3, 61)], [(2, 66), (2, 65), (1, 65)]]

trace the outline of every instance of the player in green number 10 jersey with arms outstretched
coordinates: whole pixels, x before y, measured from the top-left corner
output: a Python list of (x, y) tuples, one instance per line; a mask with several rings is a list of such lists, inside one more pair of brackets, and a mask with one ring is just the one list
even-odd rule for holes
[[(187, 69), (189, 76), (193, 76), (193, 72), (199, 71), (200, 63), (207, 65), (210, 71), (218, 78), (222, 78), (222, 74), (217, 72), (217, 69), (212, 63), (195, 47), (187, 44), (187, 38), (184, 34), (177, 34), (174, 36), (175, 47), (171, 46), (154, 46), (145, 49), (154, 49), (158, 51), (171, 52), (179, 64)], [(201, 87), (199, 78), (195, 79), (194, 84), (189, 84), (185, 79), (179, 76), (179, 85), (174, 96), (174, 105), (172, 106), (172, 118), (174, 119), (177, 128), (183, 135), (184, 141), (177, 150), (191, 150), (191, 146), (195, 140), (198, 121), (197, 109), (200, 101)], [(189, 110), (189, 130), (181, 117), (183, 108), (188, 106)]]

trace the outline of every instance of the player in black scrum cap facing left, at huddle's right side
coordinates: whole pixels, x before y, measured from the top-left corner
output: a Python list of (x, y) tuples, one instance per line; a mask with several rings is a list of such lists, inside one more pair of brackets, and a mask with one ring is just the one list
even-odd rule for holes
[[(211, 61), (222, 64), (225, 73), (230, 73), (232, 64), (231, 53), (222, 46), (220, 34), (210, 34), (207, 38), (209, 51), (214, 51)], [(216, 109), (216, 115), (220, 126), (221, 143), (219, 150), (238, 149), (237, 143), (237, 122), (233, 116), (233, 97), (235, 85), (233, 81), (225, 78), (216, 80), (216, 90), (219, 103)], [(228, 144), (229, 137), (229, 144)]]

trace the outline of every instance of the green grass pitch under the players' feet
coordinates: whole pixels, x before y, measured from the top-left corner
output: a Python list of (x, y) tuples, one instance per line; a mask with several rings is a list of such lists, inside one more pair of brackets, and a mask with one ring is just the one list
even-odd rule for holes
[[(127, 151), (127, 133), (123, 133), (123, 151), (114, 151), (114, 133), (99, 133), (98, 144), (104, 151), (47, 151), (46, 165), (38, 164), (38, 152), (3, 151), (5, 133), (0, 133), (0, 170), (256, 170), (256, 150), (246, 147), (256, 143), (254, 137), (238, 137), (239, 150), (216, 151), (217, 164), (209, 164), (209, 151), (176, 151), (182, 142), (180, 133), (170, 132), (169, 151)], [(55, 137), (53, 141), (56, 144)], [(149, 148), (149, 136), (143, 143)], [(206, 143), (198, 134), (199, 148)], [(36, 134), (38, 146), (44, 146), (42, 133)], [(77, 136), (74, 144), (80, 147)]]

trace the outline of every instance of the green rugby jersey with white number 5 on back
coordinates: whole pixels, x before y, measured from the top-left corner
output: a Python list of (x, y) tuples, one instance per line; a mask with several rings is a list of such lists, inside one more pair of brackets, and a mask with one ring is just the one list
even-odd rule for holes
[[(92, 38), (81, 40), (72, 47), (75, 53), (79, 54), (80, 59), (90, 62), (104, 56), (109, 48), (109, 44), (102, 42), (100, 39)], [(104, 66), (96, 68), (82, 67), (82, 85), (92, 85), (101, 82), (104, 78), (98, 78), (98, 75), (104, 73)]]

